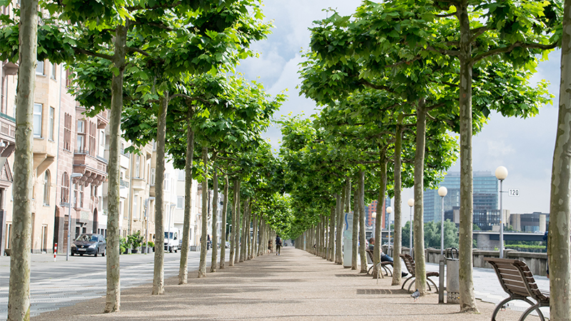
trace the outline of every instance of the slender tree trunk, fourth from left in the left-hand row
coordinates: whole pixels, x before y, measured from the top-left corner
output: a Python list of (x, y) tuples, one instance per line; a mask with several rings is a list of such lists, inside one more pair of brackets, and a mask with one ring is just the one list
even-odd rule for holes
[(188, 128), (186, 128), (186, 163), (184, 165), (183, 248), (181, 249), (181, 265), (178, 267), (178, 284), (186, 284), (186, 282), (188, 282), (188, 248), (190, 248), (189, 243), (191, 238), (192, 210), (192, 162), (194, 160), (194, 131), (192, 130), (190, 123), (192, 116), (193, 108), (192, 106), (188, 106)]

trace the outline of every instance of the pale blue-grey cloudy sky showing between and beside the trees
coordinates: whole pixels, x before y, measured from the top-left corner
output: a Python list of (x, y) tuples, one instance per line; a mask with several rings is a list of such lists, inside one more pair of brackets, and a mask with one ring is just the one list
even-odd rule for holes
[[(264, 83), (269, 93), (286, 91), (289, 98), (275, 118), (288, 113), (315, 113), (315, 103), (299, 96), (295, 86), (298, 79), (298, 64), (303, 61), (300, 51), (308, 49), (312, 22), (324, 19), (323, 9), (334, 8), (340, 14), (349, 15), (360, 4), (358, 0), (265, 0), (263, 11), (275, 28), (266, 41), (253, 46), (259, 58), (243, 61), (238, 71), (246, 78)], [(556, 98), (553, 105), (540, 110), (534, 118), (504, 118), (490, 115), (482, 133), (473, 138), (473, 168), (494, 172), (497, 166), (507, 168), (509, 175), (504, 181), (504, 190), (517, 188), (520, 197), (504, 197), (504, 208), (512, 213), (549, 213), (550, 173), (555, 146), (557, 125), (557, 97), (560, 76), (560, 51), (550, 54), (550, 60), (540, 64), (535, 81), (551, 82), (550, 92)], [(281, 138), (278, 128), (271, 128), (266, 137), (275, 148)], [(459, 164), (450, 168), (458, 171)], [(403, 200), (413, 197), (412, 190), (403, 192)], [(403, 208), (406, 208), (403, 203)]]

